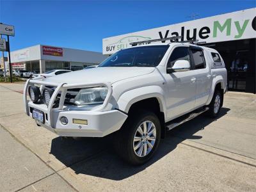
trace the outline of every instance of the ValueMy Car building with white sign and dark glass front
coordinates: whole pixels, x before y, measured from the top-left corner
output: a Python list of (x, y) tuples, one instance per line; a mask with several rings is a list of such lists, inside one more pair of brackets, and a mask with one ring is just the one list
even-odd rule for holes
[(228, 89), (256, 93), (256, 8), (104, 38), (102, 52), (109, 55), (131, 42), (171, 36), (218, 50), (228, 71)]

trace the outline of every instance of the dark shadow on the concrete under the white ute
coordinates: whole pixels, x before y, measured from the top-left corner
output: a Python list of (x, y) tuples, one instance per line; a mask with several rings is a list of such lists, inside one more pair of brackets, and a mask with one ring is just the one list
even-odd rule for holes
[(62, 140), (54, 138), (51, 154), (76, 174), (92, 175), (111, 180), (123, 180), (145, 170), (162, 157), (170, 154), (184, 140), (200, 140), (202, 136), (194, 136), (198, 131), (226, 115), (229, 108), (221, 108), (217, 118), (208, 118), (203, 113), (171, 131), (160, 143), (156, 155), (141, 166), (132, 166), (122, 161), (113, 151), (113, 134), (104, 138), (81, 138), (80, 140)]

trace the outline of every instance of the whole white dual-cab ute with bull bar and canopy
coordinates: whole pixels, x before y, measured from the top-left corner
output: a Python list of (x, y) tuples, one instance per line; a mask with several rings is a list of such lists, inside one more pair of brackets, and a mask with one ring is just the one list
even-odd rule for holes
[(27, 115), (64, 137), (115, 132), (116, 152), (129, 163), (145, 163), (166, 131), (203, 112), (217, 116), (227, 90), (227, 70), (216, 50), (150, 42), (156, 40), (133, 43), (90, 70), (28, 79)]

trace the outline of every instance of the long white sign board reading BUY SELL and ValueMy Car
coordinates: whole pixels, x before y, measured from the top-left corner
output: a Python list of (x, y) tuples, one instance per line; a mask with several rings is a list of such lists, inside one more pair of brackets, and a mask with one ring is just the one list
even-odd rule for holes
[(131, 47), (131, 42), (172, 36), (207, 43), (256, 38), (256, 8), (104, 38), (102, 52), (113, 54)]

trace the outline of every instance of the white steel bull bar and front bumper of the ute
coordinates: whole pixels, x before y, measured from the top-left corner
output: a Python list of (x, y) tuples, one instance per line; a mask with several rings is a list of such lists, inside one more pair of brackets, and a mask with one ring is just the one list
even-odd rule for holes
[[(31, 101), (27, 100), (27, 92), (29, 84), (40, 84), (44, 81), (34, 81), (29, 80), (26, 83), (24, 88), (24, 104), (27, 115), (32, 117), (33, 109), (38, 109), (44, 112), (44, 124), (36, 121), (37, 124), (49, 129), (50, 131), (60, 135), (60, 136), (76, 136), (76, 137), (103, 137), (112, 132), (117, 131), (124, 124), (127, 115), (118, 110), (104, 111), (111, 97), (112, 90), (109, 88), (109, 85), (104, 84), (110, 89), (106, 100), (100, 108), (91, 111), (68, 111), (63, 107), (63, 103), (60, 102), (58, 108), (52, 108), (54, 99), (56, 95), (61, 91), (61, 98), (65, 97), (65, 89), (71, 87), (78, 87), (81, 85), (68, 85), (63, 86), (64, 84), (56, 84), (57, 88), (52, 94), (49, 106), (45, 104), (34, 104)], [(49, 84), (49, 83), (48, 83)], [(44, 82), (43, 85), (47, 85), (47, 82)], [(99, 85), (99, 84), (97, 84)], [(92, 86), (92, 85), (86, 85)], [(84, 87), (84, 85), (83, 85)], [(64, 96), (63, 96), (64, 95)], [(62, 99), (63, 100), (63, 99)], [(65, 116), (68, 119), (68, 124), (63, 125), (60, 122), (61, 116)], [(74, 124), (73, 119), (83, 119), (87, 120), (87, 125)]]

